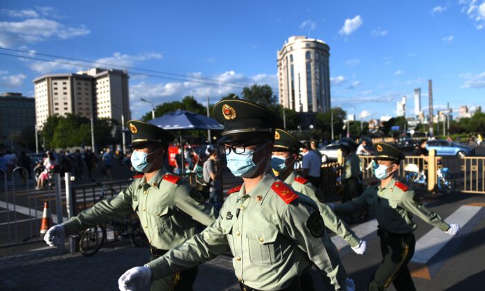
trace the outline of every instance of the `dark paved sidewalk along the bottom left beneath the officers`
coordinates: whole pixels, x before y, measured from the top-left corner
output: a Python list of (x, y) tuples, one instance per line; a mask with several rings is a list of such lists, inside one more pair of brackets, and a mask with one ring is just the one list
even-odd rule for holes
[[(41, 249), (0, 258), (0, 290), (118, 290), (126, 270), (145, 264), (148, 249), (103, 247), (91, 257)], [(149, 288), (145, 288), (149, 290)], [(219, 256), (199, 267), (194, 290), (240, 290), (231, 258)]]

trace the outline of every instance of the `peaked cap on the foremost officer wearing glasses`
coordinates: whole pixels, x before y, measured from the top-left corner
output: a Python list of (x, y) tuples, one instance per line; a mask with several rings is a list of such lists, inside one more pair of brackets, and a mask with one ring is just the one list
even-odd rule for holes
[(274, 135), (283, 121), (266, 107), (248, 100), (221, 100), (212, 109), (215, 119), (224, 125), (219, 143), (254, 144)]

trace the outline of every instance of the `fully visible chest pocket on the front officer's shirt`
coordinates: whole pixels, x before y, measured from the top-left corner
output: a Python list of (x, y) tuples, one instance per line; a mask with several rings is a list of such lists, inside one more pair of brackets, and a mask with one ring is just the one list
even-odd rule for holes
[(276, 229), (246, 230), (246, 238), (249, 248), (249, 259), (256, 265), (272, 265), (283, 258), (281, 245)]

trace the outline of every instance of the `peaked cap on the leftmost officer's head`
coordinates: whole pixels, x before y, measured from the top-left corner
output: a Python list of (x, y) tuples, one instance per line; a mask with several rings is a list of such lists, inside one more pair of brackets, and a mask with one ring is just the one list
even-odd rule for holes
[(127, 127), (132, 132), (130, 146), (142, 145), (143, 143), (161, 143), (168, 145), (175, 136), (157, 125), (145, 121), (128, 121)]

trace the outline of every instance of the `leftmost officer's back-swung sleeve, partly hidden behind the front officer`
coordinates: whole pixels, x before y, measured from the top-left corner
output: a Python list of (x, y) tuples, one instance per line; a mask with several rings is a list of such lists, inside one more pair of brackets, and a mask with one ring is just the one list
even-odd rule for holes
[(174, 199), (175, 206), (178, 209), (206, 226), (218, 217), (218, 211), (212, 204), (206, 202), (202, 194), (193, 186), (188, 184), (177, 185)]

